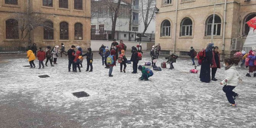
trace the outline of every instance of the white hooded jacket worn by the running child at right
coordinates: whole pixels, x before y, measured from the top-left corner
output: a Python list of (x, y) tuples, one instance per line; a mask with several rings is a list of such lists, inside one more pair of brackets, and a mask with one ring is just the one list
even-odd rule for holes
[(230, 68), (225, 70), (225, 79), (221, 82), (230, 86), (237, 86), (240, 79), (240, 74), (237, 72), (235, 65), (230, 65)]

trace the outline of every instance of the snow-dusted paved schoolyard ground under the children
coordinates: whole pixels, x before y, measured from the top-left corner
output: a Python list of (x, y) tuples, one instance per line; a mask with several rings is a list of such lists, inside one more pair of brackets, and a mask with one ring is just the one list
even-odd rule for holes
[[(144, 56), (139, 64), (150, 60)], [(157, 66), (164, 61), (160, 57)], [(39, 70), (36, 60), (37, 67), (30, 69), (23, 67), (29, 65), (25, 55), (0, 63), (0, 102), (8, 101), (6, 96), (11, 93), (19, 94), (31, 99), (32, 104), (68, 113), (70, 120), (85, 128), (256, 127), (256, 78), (245, 77), (247, 70), (243, 68), (238, 68), (243, 82), (234, 89), (240, 94), (238, 107), (228, 107), (219, 84), (224, 79), (224, 68), (217, 70), (218, 81), (202, 83), (199, 73), (189, 73), (193, 66), (186, 58), (179, 58), (174, 70), (167, 69), (167, 65), (162, 71), (154, 71), (150, 81), (139, 81), (139, 71), (131, 74), (132, 64), (127, 65), (126, 73), (120, 73), (118, 64), (110, 78), (99, 56), (94, 57), (93, 72), (85, 71), (86, 62), (81, 73), (68, 72), (66, 57), (58, 58), (57, 63)], [(78, 91), (90, 96), (76, 98), (71, 94)]]

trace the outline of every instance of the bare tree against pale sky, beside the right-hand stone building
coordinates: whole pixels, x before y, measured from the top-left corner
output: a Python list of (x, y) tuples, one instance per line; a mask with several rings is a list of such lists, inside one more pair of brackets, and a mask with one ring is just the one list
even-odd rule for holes
[(156, 0), (141, 0), (141, 15), (144, 23), (143, 34), (147, 31), (150, 22), (156, 18)]

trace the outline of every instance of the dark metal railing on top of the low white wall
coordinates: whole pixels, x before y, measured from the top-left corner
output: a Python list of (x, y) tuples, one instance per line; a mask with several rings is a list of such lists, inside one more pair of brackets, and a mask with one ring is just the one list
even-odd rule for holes
[(136, 31), (102, 31), (91, 29), (91, 40), (111, 41), (113, 39), (134, 42), (155, 42), (155, 34), (142, 34)]

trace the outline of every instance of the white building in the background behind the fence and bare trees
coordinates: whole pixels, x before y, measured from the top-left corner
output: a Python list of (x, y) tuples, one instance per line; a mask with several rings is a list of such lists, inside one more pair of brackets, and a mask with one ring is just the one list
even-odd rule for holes
[[(132, 0), (130, 6), (130, 0), (124, 0), (121, 2), (119, 14), (116, 23), (116, 31), (129, 31), (129, 22), (130, 22), (130, 8), (132, 9), (131, 12), (131, 31), (138, 31), (143, 32), (144, 24), (143, 20), (140, 18), (141, 10), (139, 6), (140, 0)], [(93, 13), (93, 10), (91, 10)], [(91, 28), (94, 30), (111, 30), (112, 28), (112, 20), (109, 8), (104, 6), (100, 8), (91, 19)], [(147, 33), (154, 33), (155, 32), (155, 20), (152, 20), (149, 27), (147, 28)]]

